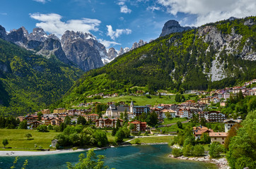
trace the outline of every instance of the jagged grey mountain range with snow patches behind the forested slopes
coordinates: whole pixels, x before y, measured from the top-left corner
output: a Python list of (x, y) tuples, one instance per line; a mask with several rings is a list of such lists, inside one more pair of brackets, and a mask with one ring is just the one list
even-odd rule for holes
[(59, 39), (54, 34), (47, 35), (39, 27), (34, 28), (30, 34), (25, 27), (11, 30), (11, 32), (7, 33), (1, 25), (0, 38), (18, 44), (18, 46), (25, 49), (35, 51), (35, 54), (46, 58), (54, 55), (59, 61), (73, 65), (85, 72), (100, 68), (106, 63), (110, 63), (117, 56), (146, 44), (146, 42), (140, 40), (139, 43), (134, 42), (132, 49), (126, 47), (116, 51), (114, 48), (110, 48), (107, 51), (105, 46), (90, 33), (66, 30), (61, 39)]

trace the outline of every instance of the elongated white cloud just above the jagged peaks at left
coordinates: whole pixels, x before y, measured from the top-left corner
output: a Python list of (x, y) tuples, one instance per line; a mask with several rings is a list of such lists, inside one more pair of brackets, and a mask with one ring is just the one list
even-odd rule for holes
[(37, 27), (41, 27), (46, 32), (54, 33), (57, 37), (61, 37), (66, 30), (74, 30), (81, 32), (98, 31), (100, 20), (81, 18), (81, 20), (67, 20), (62, 22), (62, 16), (57, 13), (33, 13), (30, 18), (41, 21), (36, 23)]

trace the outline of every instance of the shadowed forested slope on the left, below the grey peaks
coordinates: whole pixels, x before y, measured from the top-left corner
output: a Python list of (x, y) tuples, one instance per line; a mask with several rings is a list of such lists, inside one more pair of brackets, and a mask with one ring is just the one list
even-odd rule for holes
[(21, 115), (57, 101), (82, 71), (0, 39), (0, 113)]

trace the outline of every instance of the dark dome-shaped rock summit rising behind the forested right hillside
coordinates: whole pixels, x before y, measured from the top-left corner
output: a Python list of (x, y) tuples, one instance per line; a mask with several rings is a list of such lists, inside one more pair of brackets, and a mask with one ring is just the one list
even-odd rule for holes
[(171, 33), (183, 32), (185, 30), (191, 30), (191, 27), (181, 27), (178, 21), (176, 20), (168, 20), (165, 25), (163, 25), (162, 33), (160, 37), (165, 35), (169, 35)]

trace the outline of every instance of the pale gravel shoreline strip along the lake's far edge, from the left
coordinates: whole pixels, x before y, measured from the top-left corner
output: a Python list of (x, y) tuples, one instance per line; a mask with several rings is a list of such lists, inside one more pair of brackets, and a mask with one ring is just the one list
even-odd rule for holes
[[(144, 146), (144, 145), (155, 145), (155, 144), (167, 144), (163, 143), (142, 143), (142, 144), (127, 144), (127, 145), (119, 145), (119, 146)], [(101, 150), (101, 149), (110, 149), (119, 146), (105, 146), (105, 147), (96, 147), (96, 148), (88, 148), (88, 149), (63, 149), (63, 150), (54, 150), (54, 151), (0, 151), (0, 156), (45, 156), (51, 154), (66, 154), (66, 153), (76, 153), (80, 151), (88, 151), (90, 149)]]

